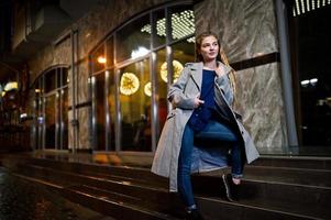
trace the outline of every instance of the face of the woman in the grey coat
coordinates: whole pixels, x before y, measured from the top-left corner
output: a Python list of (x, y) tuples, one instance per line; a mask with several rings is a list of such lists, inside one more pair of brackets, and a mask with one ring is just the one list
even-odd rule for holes
[(203, 62), (216, 61), (219, 53), (218, 40), (214, 36), (206, 36), (201, 41), (200, 53)]

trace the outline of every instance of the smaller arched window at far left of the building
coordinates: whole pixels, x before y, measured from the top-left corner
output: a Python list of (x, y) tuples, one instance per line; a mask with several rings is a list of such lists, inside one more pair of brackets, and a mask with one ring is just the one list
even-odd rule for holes
[[(68, 148), (68, 69), (54, 68), (34, 85), (35, 148)], [(44, 86), (43, 86), (44, 80)], [(45, 87), (45, 92), (43, 92)], [(58, 89), (58, 87), (63, 87)], [(45, 112), (43, 112), (45, 109)], [(43, 143), (43, 140), (45, 142)]]

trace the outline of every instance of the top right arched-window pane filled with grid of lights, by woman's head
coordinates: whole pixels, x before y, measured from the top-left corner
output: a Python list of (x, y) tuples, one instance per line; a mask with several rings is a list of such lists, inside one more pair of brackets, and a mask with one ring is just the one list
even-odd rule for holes
[[(174, 41), (195, 34), (195, 15), (191, 6), (177, 6), (169, 9), (172, 19), (172, 38)], [(194, 42), (188, 38), (188, 42)]]

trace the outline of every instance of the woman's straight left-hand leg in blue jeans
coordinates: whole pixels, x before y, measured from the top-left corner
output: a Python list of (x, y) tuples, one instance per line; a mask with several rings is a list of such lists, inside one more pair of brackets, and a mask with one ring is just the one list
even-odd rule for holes
[(178, 160), (178, 175), (177, 184), (180, 197), (188, 209), (195, 209), (195, 198), (192, 193), (190, 168), (191, 168), (191, 154), (194, 147), (194, 130), (187, 124), (184, 130), (181, 148)]

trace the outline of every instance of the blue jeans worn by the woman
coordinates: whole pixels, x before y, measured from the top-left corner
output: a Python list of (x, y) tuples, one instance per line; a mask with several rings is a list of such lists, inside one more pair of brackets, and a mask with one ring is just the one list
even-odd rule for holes
[(187, 124), (185, 127), (181, 140), (177, 175), (178, 191), (181, 199), (184, 200), (184, 204), (187, 207), (192, 207), (195, 205), (190, 180), (191, 154), (195, 136), (233, 142), (233, 145), (231, 147), (231, 173), (233, 177), (242, 177), (244, 165), (242, 150), (240, 147), (240, 144), (238, 143), (238, 138), (231, 131), (231, 129), (213, 120), (210, 120), (207, 127), (200, 132), (195, 132)]

